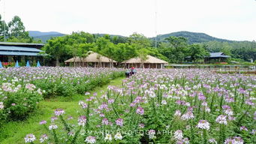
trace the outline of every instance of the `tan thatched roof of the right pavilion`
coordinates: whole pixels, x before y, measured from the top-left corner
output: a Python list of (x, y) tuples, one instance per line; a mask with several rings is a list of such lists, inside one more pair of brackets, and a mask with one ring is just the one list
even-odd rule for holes
[[(129, 60), (127, 60), (126, 62), (122, 62), (122, 63), (127, 63), (127, 64), (135, 64), (135, 63), (142, 63), (140, 58), (131, 58)], [(144, 62), (144, 64), (168, 64), (168, 62), (165, 62), (159, 58), (155, 58), (151, 55), (147, 55), (147, 59)]]

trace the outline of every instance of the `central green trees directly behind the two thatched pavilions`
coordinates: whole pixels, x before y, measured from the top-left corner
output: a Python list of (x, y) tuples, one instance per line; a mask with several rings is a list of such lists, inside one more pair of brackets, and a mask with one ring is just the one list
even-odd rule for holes
[(73, 32), (63, 37), (53, 37), (47, 41), (44, 51), (51, 62), (56, 65), (68, 58), (83, 58), (89, 51), (112, 58), (116, 62), (124, 62), (130, 58), (139, 57), (146, 60), (146, 55), (161, 58), (167, 62), (184, 62), (190, 56), (193, 61), (201, 61), (209, 55), (206, 47), (200, 44), (188, 44), (185, 37), (168, 37), (168, 43), (154, 43), (143, 34), (131, 34), (129, 37), (110, 36), (104, 34), (89, 34), (84, 31)]

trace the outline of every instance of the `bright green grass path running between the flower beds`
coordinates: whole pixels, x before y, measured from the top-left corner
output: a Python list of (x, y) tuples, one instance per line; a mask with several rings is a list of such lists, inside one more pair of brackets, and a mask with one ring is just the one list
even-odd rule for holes
[[(97, 93), (107, 91), (107, 86), (121, 86), (123, 77), (117, 78), (116, 80), (110, 81), (105, 86), (95, 88), (91, 93)], [(85, 95), (73, 95), (67, 98), (53, 98), (45, 101), (41, 101), (38, 110), (29, 116), (26, 121), (9, 121), (4, 124), (0, 129), (0, 143), (11, 144), (11, 143), (24, 143), (24, 137), (28, 133), (34, 133), (37, 139), (40, 138), (41, 134), (46, 133), (46, 130), (39, 124), (41, 120), (49, 121), (53, 116), (54, 110), (62, 108), (65, 113), (71, 114), (74, 118), (77, 118), (77, 110), (80, 110), (78, 101), (83, 101), (88, 96)]]

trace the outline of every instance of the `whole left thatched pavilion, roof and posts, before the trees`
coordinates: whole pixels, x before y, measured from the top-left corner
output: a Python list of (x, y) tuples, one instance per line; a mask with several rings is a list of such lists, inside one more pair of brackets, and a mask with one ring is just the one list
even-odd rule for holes
[(70, 65), (74, 63), (76, 66), (85, 66), (85, 67), (112, 67), (113, 64), (117, 63), (111, 58), (107, 58), (104, 55), (98, 54), (97, 52), (88, 52), (89, 55), (86, 58), (74, 57), (69, 58), (65, 61), (66, 64)]

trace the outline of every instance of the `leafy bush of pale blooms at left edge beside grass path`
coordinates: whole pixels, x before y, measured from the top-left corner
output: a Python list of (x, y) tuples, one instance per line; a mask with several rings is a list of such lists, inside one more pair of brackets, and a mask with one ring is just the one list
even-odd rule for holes
[(22, 86), (17, 79), (12, 80), (12, 83), (2, 83), (1, 88), (0, 121), (23, 120), (37, 108), (38, 102), (42, 100), (41, 89), (29, 83)]

